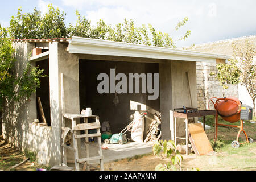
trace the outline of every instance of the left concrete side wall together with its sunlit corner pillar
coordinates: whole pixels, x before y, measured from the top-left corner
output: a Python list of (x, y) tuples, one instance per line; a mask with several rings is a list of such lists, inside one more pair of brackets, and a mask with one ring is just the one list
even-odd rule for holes
[[(17, 51), (15, 73), (20, 75), (28, 62), (27, 55), (35, 44), (19, 42), (14, 46)], [(48, 48), (51, 126), (39, 127), (32, 123), (37, 118), (34, 93), (30, 102), (25, 99), (20, 102), (6, 102), (3, 109), (3, 137), (21, 150), (36, 152), (39, 163), (53, 166), (61, 163), (62, 154), (60, 75), (64, 73), (64, 112), (79, 113), (79, 67), (78, 58), (68, 53), (67, 44), (51, 42)], [(71, 124), (68, 120), (66, 122), (67, 125)]]

